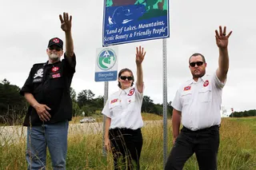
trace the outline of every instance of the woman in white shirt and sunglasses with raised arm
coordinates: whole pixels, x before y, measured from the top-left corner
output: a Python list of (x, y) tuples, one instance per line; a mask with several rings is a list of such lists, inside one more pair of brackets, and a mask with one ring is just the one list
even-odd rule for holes
[[(142, 151), (142, 101), (143, 73), (142, 61), (146, 52), (136, 48), (137, 81), (130, 69), (118, 73), (119, 90), (110, 95), (102, 113), (106, 116), (105, 148), (113, 153), (114, 169), (139, 169)], [(122, 164), (118, 160), (122, 159)]]

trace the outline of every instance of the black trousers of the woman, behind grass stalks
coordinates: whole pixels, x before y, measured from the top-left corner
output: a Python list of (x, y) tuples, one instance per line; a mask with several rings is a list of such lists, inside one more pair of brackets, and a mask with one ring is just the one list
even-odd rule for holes
[[(110, 129), (110, 143), (114, 158), (114, 169), (139, 169), (142, 151), (142, 131), (140, 128)], [(121, 160), (121, 164), (120, 163)]]

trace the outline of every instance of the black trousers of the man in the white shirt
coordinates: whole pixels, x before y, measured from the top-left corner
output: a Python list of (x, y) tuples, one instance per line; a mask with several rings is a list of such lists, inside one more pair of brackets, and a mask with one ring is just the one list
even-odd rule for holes
[(218, 145), (218, 125), (198, 131), (183, 127), (170, 151), (165, 169), (182, 170), (186, 160), (195, 153), (200, 170), (216, 170)]

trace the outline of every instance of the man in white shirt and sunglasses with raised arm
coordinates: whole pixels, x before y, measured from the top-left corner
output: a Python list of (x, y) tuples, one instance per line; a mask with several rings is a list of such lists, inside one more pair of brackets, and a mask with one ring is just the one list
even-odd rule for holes
[[(215, 30), (219, 49), (218, 69), (213, 75), (206, 74), (206, 59), (194, 53), (189, 60), (193, 79), (186, 81), (177, 91), (172, 102), (174, 147), (166, 162), (166, 170), (183, 168), (194, 153), (200, 170), (217, 169), (219, 126), (222, 88), (229, 69), (228, 39), (226, 26)], [(180, 122), (183, 128), (179, 132)]]

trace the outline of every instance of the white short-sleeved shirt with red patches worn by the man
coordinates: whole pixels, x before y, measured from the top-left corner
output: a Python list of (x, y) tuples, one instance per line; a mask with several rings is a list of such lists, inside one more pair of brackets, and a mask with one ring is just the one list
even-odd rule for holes
[(222, 88), (216, 73), (186, 81), (178, 89), (172, 106), (182, 112), (182, 125), (190, 130), (209, 128), (221, 123)]

